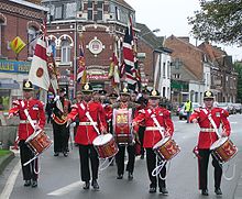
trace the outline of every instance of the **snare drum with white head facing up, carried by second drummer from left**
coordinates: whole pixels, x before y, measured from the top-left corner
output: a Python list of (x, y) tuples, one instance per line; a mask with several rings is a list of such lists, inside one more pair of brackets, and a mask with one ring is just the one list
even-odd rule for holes
[(113, 157), (119, 152), (116, 141), (110, 133), (97, 136), (92, 144), (100, 158)]

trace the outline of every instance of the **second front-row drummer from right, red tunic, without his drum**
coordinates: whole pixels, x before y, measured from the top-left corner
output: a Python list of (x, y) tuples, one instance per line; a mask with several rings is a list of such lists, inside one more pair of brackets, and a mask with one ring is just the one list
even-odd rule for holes
[[(147, 173), (151, 180), (150, 184), (150, 192), (156, 192), (157, 187), (157, 178), (156, 176), (152, 175), (152, 172), (156, 167), (156, 163), (161, 162), (157, 161), (157, 155), (153, 151), (153, 146), (160, 142), (162, 139), (162, 133), (160, 132), (158, 128), (156, 126), (152, 115), (158, 121), (161, 128), (164, 131), (164, 136), (172, 136), (174, 133), (174, 124), (170, 119), (170, 112), (162, 107), (158, 106), (160, 102), (160, 93), (157, 90), (151, 90), (150, 99), (147, 107), (143, 110), (140, 110), (139, 115), (135, 117), (133, 120), (133, 125), (135, 131), (139, 130), (139, 124), (145, 122), (145, 132), (144, 132), (144, 141), (143, 147), (146, 151), (146, 165), (147, 165)], [(165, 176), (166, 176), (166, 166), (164, 166), (161, 170), (161, 177), (158, 177), (158, 188), (160, 192), (163, 195), (167, 195), (168, 191), (166, 189)]]

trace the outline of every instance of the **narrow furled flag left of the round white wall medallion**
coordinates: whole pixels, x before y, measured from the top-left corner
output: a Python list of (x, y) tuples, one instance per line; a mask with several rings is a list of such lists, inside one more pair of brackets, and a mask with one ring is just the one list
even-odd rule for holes
[(78, 69), (77, 69), (77, 82), (86, 84), (87, 82), (87, 71), (86, 71), (86, 62), (84, 55), (84, 44), (82, 36), (80, 36), (80, 54), (78, 57)]

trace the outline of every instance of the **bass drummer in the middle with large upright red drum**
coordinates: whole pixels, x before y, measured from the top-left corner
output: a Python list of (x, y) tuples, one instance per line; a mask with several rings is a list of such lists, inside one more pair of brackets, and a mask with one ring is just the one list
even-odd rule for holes
[(133, 179), (133, 170), (135, 163), (134, 134), (131, 129), (131, 122), (134, 117), (136, 104), (131, 102), (130, 90), (124, 87), (120, 91), (120, 101), (112, 104), (113, 134), (119, 147), (116, 155), (116, 164), (118, 168), (117, 179), (123, 178), (125, 150), (128, 152), (128, 179)]

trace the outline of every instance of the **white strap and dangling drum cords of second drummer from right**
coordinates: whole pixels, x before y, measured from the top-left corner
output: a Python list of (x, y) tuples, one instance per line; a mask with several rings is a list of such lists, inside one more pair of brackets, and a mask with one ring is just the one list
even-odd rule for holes
[[(161, 126), (161, 124), (158, 123), (155, 114), (152, 112), (151, 109), (147, 109), (147, 112), (151, 114), (151, 118), (152, 120), (154, 121), (155, 125), (158, 128), (158, 131), (162, 135), (162, 137), (164, 139), (165, 137), (165, 134), (164, 134), (164, 128)], [(168, 164), (168, 168), (167, 168), (167, 173), (166, 173), (166, 176), (163, 178), (161, 176), (161, 172), (163, 169), (163, 167), (166, 165), (167, 161), (163, 161), (160, 165), (158, 165), (158, 156), (156, 156), (156, 167), (154, 168), (154, 170), (152, 172), (152, 176), (156, 176), (156, 177), (160, 177), (162, 180), (165, 180), (167, 178), (167, 175), (168, 175), (168, 172), (169, 172), (169, 168), (170, 168), (170, 162)]]

